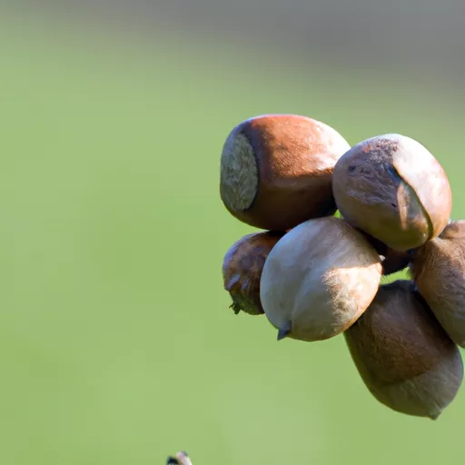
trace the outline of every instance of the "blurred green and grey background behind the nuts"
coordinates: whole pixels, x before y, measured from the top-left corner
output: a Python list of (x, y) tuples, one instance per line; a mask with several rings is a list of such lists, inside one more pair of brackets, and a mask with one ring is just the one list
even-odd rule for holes
[(0, 463), (423, 465), (463, 458), (389, 411), (342, 337), (276, 342), (228, 309), (252, 228), (221, 203), (235, 124), (296, 113), (350, 143), (401, 133), (465, 217), (465, 4), (191, 0), (0, 4)]

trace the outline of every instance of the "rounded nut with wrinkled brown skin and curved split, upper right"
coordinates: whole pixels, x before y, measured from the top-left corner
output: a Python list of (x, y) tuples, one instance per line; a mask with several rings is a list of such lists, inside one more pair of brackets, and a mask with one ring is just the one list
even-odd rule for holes
[(450, 218), (452, 193), (442, 166), (401, 134), (351, 147), (334, 167), (332, 190), (345, 220), (395, 251), (437, 237)]

